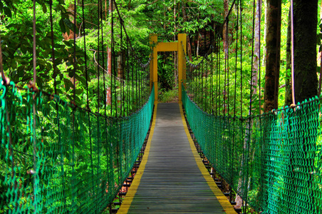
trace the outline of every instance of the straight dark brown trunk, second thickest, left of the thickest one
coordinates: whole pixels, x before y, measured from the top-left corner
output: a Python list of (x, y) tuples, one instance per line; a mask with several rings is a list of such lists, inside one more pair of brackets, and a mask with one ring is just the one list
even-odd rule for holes
[(278, 108), (281, 58), (281, 0), (267, 0), (264, 111)]

